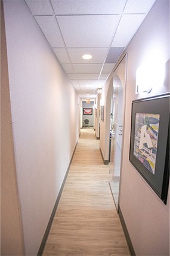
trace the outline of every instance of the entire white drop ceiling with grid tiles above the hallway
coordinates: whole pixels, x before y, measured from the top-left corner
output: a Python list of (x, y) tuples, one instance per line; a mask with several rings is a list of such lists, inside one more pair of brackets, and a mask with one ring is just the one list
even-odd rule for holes
[(24, 1), (85, 100), (96, 97), (155, 0)]

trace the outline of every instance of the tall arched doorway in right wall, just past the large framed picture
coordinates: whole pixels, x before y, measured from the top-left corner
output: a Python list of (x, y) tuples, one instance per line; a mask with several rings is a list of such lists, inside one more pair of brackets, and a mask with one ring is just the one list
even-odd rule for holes
[(126, 93), (126, 55), (120, 61), (113, 73), (113, 94), (110, 104), (110, 150), (109, 171), (111, 180), (109, 182), (115, 201), (116, 209), (119, 205), (119, 188), (122, 162), (123, 125), (125, 115), (125, 93)]

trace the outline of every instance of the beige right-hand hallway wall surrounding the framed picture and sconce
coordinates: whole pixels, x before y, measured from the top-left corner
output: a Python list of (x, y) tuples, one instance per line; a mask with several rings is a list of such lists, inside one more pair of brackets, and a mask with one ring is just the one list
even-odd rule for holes
[[(129, 162), (131, 132), (131, 103), (137, 98), (146, 98), (169, 92), (169, 1), (157, 0), (143, 24), (132, 38), (125, 52), (128, 53), (125, 105), (125, 128), (123, 139), (122, 180), (120, 209), (128, 228), (136, 255), (169, 255), (169, 193), (167, 205)], [(135, 95), (136, 70), (140, 65), (152, 62), (165, 67), (165, 79), (154, 85), (150, 94)], [(110, 75), (103, 88), (105, 99)], [(106, 103), (107, 105), (107, 103)], [(107, 111), (110, 112), (110, 109)], [(106, 124), (105, 124), (106, 126)], [(104, 127), (106, 132), (106, 127)], [(101, 127), (102, 129), (102, 127)], [(101, 134), (104, 134), (101, 131)], [(101, 149), (105, 157), (107, 141), (101, 137)]]

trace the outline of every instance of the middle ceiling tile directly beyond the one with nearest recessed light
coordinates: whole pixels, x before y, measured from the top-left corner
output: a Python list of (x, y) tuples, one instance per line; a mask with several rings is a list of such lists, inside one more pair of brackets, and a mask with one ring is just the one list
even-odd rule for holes
[(100, 73), (102, 64), (73, 64), (76, 73)]

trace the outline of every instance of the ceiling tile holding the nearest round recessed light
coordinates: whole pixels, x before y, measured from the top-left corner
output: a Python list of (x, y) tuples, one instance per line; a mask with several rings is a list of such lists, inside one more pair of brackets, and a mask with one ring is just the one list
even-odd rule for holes
[[(70, 59), (72, 63), (103, 63), (107, 56), (108, 48), (68, 48)], [(91, 54), (92, 59), (82, 59), (82, 55)]]

